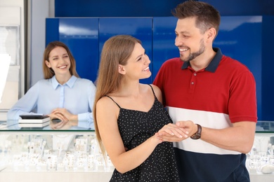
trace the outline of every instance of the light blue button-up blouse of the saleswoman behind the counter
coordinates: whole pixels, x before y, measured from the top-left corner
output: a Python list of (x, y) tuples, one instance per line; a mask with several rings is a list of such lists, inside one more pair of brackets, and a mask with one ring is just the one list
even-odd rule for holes
[(91, 80), (72, 76), (64, 85), (60, 85), (56, 76), (39, 80), (8, 111), (8, 120), (18, 120), (23, 114), (47, 115), (56, 108), (65, 108), (78, 115), (79, 127), (94, 130), (92, 109), (96, 86)]

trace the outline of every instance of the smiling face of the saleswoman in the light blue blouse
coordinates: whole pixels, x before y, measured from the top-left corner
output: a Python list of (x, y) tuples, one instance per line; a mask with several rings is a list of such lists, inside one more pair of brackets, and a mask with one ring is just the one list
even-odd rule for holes
[(51, 50), (45, 64), (48, 68), (53, 69), (56, 75), (70, 74), (70, 57), (63, 47), (56, 47)]

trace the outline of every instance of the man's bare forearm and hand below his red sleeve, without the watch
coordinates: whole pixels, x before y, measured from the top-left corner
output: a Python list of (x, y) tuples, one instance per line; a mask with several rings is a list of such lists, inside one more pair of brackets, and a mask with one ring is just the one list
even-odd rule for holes
[[(164, 141), (182, 141), (197, 132), (197, 125), (191, 120), (178, 121), (176, 125), (187, 131), (189, 133), (188, 137), (183, 136), (183, 138), (178, 138), (161, 130), (159, 131), (159, 134)], [(232, 127), (227, 127), (221, 130), (202, 126), (200, 139), (219, 148), (240, 153), (249, 153), (254, 144), (255, 130), (256, 122), (252, 121), (233, 123)]]

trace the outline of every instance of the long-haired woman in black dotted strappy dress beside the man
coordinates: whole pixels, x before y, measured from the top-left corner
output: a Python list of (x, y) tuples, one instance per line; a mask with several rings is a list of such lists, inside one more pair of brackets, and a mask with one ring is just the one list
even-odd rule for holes
[(149, 64), (132, 36), (113, 36), (103, 46), (93, 118), (101, 151), (115, 166), (110, 181), (178, 181), (173, 144), (157, 132), (183, 133), (171, 124), (159, 88), (139, 83), (151, 76)]

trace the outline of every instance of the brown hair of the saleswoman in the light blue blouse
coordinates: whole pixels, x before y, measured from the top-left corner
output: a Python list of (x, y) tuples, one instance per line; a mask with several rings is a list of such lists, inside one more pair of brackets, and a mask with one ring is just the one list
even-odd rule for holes
[(67, 55), (70, 57), (70, 74), (74, 75), (76, 77), (78, 76), (78, 73), (76, 71), (76, 62), (74, 57), (72, 56), (72, 52), (70, 52), (70, 49), (67, 47), (67, 45), (65, 45), (65, 43), (62, 43), (60, 41), (53, 41), (51, 43), (48, 43), (48, 45), (46, 46), (46, 49), (44, 50), (44, 59), (43, 59), (43, 72), (44, 72), (44, 78), (45, 79), (49, 79), (52, 78), (56, 73), (54, 73), (53, 69), (48, 68), (48, 66), (46, 66), (45, 61), (49, 62), (49, 54), (51, 53), (51, 50), (53, 50), (56, 47), (62, 47), (65, 48), (65, 50), (67, 50)]

